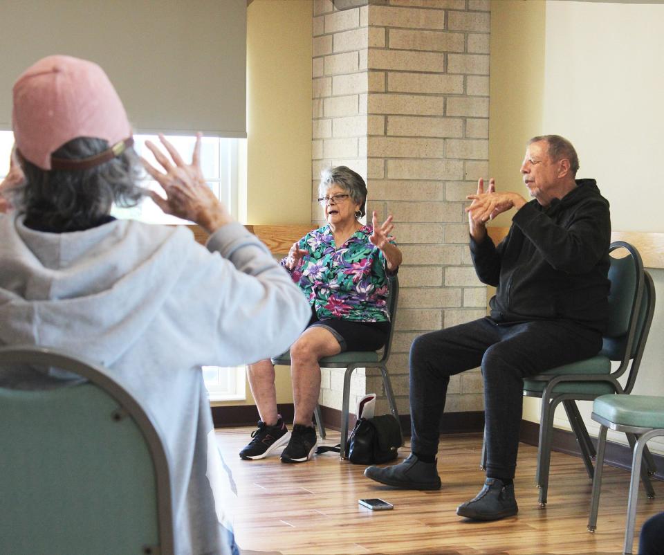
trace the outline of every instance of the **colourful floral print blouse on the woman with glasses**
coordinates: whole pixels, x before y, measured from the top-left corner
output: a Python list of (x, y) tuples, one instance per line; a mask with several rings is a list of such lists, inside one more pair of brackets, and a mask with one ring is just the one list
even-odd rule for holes
[[(372, 226), (363, 226), (336, 248), (329, 225), (307, 233), (299, 248), (308, 254), (291, 271), (320, 320), (387, 322), (387, 261), (369, 241)], [(286, 258), (281, 262), (286, 264)]]

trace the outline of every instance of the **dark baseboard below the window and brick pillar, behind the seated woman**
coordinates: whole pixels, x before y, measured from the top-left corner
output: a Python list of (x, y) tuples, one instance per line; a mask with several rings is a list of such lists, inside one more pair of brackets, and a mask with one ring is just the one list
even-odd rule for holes
[[(293, 421), (293, 403), (277, 405), (279, 414), (287, 422)], [(341, 429), (341, 411), (326, 406), (320, 407), (326, 428)], [(212, 407), (212, 421), (215, 428), (232, 428), (234, 426), (254, 426), (258, 421), (258, 411), (253, 405), (216, 406)], [(401, 429), (406, 437), (410, 436), (410, 415), (399, 415)], [(349, 415), (349, 430), (355, 426), (356, 416)], [(484, 430), (484, 412), (474, 410), (468, 412), (445, 412), (441, 419), (441, 435), (477, 433)]]

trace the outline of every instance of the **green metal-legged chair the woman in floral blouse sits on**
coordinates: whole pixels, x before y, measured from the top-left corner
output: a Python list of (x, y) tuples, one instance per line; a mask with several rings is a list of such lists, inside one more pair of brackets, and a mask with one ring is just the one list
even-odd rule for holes
[[(350, 410), (350, 395), (351, 395), (351, 377), (356, 368), (378, 368), (382, 375), (382, 383), (385, 388), (385, 396), (389, 403), (389, 410), (392, 415), (399, 421), (399, 415), (396, 410), (396, 401), (394, 399), (394, 392), (392, 391), (392, 384), (389, 381), (389, 374), (387, 373), (387, 361), (389, 359), (389, 352), (392, 345), (392, 338), (394, 337), (394, 315), (396, 314), (396, 307), (399, 298), (399, 280), (396, 275), (389, 277), (389, 296), (387, 298), (387, 310), (392, 320), (392, 325), (389, 330), (389, 336), (385, 347), (380, 351), (347, 351), (334, 356), (326, 356), (321, 358), (319, 364), (324, 368), (345, 368), (344, 374), (344, 391), (343, 391), (343, 404), (341, 414), (341, 442), (340, 442), (340, 455), (345, 457), (346, 442), (348, 436), (348, 420)], [(272, 359), (273, 364), (290, 365), (291, 355), (286, 352), (280, 356)], [(322, 416), (320, 413), (320, 406), (316, 405), (315, 419), (320, 433), (320, 437), (325, 437), (325, 427), (323, 425)]]

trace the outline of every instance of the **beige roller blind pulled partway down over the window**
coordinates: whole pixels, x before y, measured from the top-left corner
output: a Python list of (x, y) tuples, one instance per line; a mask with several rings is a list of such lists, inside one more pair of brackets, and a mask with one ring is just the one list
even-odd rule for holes
[(134, 131), (246, 137), (246, 0), (3, 0), (0, 127), (39, 58), (92, 60)]

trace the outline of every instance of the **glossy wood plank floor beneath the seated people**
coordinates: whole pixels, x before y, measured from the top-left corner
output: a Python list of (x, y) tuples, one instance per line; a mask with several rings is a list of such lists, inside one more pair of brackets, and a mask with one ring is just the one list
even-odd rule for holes
[[(499, 522), (459, 518), (457, 505), (483, 483), (479, 469), (481, 436), (447, 436), (439, 450), (441, 491), (398, 491), (362, 475), (364, 466), (325, 453), (304, 464), (279, 457), (243, 461), (237, 453), (252, 428), (217, 430), (225, 462), (237, 483), (235, 533), (241, 549), (289, 554), (545, 555), (622, 552), (629, 473), (605, 469), (598, 530), (587, 518), (591, 482), (580, 459), (553, 453), (548, 504), (537, 505), (536, 448), (522, 444), (515, 480), (519, 516)], [(330, 432), (324, 444), (338, 443)], [(407, 456), (400, 450), (400, 459)], [(657, 497), (639, 494), (638, 530), (664, 510), (664, 482), (654, 481)], [(359, 498), (383, 498), (394, 510), (372, 512)], [(638, 545), (635, 547), (637, 549)]]

